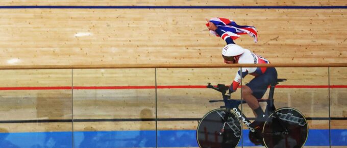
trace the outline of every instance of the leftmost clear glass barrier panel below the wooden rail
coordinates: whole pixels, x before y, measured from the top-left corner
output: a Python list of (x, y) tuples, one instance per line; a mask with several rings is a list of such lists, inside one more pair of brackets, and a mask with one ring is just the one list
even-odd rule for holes
[(71, 69), (1, 75), (0, 147), (72, 147)]

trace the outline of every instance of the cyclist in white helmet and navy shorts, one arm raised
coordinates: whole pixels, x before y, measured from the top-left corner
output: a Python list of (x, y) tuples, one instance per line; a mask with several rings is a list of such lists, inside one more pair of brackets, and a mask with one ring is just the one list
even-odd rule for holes
[[(222, 49), (222, 57), (226, 64), (268, 64), (270, 63), (265, 58), (252, 53), (250, 50), (242, 48), (241, 46), (235, 44), (233, 39), (224, 31), (218, 29), (214, 23), (208, 22), (207, 28), (209, 30), (215, 31), (222, 39), (227, 42), (227, 45)], [(253, 127), (256, 132), (257, 129), (261, 129), (263, 122), (265, 121), (265, 115), (257, 99), (261, 99), (265, 94), (267, 87), (271, 83), (276, 83), (277, 81), (277, 71), (274, 67), (250, 67), (241, 68), (236, 73), (236, 77), (229, 87), (230, 95), (235, 92), (237, 87), (241, 83), (241, 76), (244, 78), (246, 75), (255, 76), (249, 83), (242, 86), (242, 98), (247, 102), (247, 104), (252, 108), (256, 119), (252, 122), (251, 127)], [(259, 131), (261, 132), (261, 131)], [(259, 134), (259, 133), (258, 133)]]

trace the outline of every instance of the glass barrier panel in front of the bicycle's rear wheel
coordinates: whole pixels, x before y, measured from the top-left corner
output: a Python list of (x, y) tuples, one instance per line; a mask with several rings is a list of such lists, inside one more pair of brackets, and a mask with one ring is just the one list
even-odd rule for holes
[[(245, 71), (247, 68), (244, 68)], [(328, 68), (262, 68), (248, 69), (242, 84), (244, 100), (255, 98), (267, 99), (260, 102), (264, 111), (263, 118), (257, 117), (259, 124), (252, 123), (255, 133), (261, 136), (244, 136), (243, 146), (266, 145), (267, 147), (329, 147), (329, 78)], [(273, 78), (277, 81), (273, 83)], [(257, 75), (258, 74), (258, 75)], [(272, 86), (275, 86), (271, 89)], [(265, 84), (269, 87), (263, 87)], [(248, 90), (254, 96), (247, 94)], [(266, 90), (266, 92), (265, 92)], [(265, 93), (264, 93), (265, 92)], [(264, 94), (264, 95), (263, 95)], [(249, 96), (249, 98), (247, 98)], [(272, 98), (272, 100), (271, 100)], [(248, 101), (247, 101), (248, 102)], [(273, 105), (271, 105), (273, 103)], [(256, 108), (251, 103), (253, 109)], [(251, 106), (244, 104), (242, 108), (246, 116), (255, 116)], [(261, 111), (257, 111), (261, 113)], [(262, 120), (265, 121), (262, 124)], [(254, 121), (252, 121), (254, 122)], [(249, 130), (250, 131), (250, 130)], [(257, 138), (258, 137), (258, 138)], [(260, 137), (260, 138), (259, 138)], [(261, 140), (260, 140), (261, 139)]]

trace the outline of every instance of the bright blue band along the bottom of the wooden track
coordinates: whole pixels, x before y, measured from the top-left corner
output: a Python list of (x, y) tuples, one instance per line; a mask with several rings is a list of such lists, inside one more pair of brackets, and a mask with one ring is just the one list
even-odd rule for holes
[[(243, 135), (248, 135), (243, 130)], [(74, 147), (156, 147), (155, 131), (74, 132)], [(254, 146), (243, 137), (243, 146)], [(331, 130), (333, 146), (347, 146), (347, 129)], [(241, 146), (241, 142), (239, 143)], [(329, 146), (329, 130), (312, 129), (306, 146)], [(198, 147), (195, 130), (158, 131), (158, 147)], [(72, 148), (72, 132), (0, 133), (0, 147)]]

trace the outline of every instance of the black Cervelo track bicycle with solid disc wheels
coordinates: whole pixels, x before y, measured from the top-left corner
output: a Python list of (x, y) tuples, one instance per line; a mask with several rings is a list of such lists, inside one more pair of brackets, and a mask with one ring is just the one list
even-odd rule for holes
[(249, 129), (249, 138), (256, 145), (266, 147), (303, 147), (308, 136), (308, 124), (305, 116), (294, 108), (283, 107), (276, 109), (274, 105), (275, 86), (286, 79), (278, 79), (270, 84), (268, 99), (258, 99), (258, 102), (266, 102), (264, 118), (266, 119), (261, 129), (252, 128), (247, 118), (238, 106), (246, 102), (231, 99), (226, 95), (228, 86), (208, 83), (207, 88), (221, 92), (223, 100), (210, 100), (210, 103), (224, 102), (220, 106), (208, 112), (199, 122), (196, 130), (197, 143), (202, 148), (230, 148), (236, 147), (241, 139), (241, 121)]

